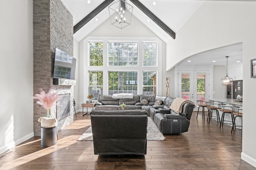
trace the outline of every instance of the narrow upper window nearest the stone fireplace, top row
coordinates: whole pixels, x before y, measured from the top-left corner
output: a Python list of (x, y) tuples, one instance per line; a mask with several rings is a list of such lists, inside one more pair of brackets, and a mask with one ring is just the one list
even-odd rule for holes
[(90, 66), (103, 66), (103, 43), (89, 42)]

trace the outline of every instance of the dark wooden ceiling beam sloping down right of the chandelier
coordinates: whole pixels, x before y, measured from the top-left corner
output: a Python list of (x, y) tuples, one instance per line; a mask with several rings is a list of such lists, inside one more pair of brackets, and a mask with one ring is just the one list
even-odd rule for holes
[(166, 33), (168, 33), (173, 39), (175, 39), (175, 32), (172, 31), (163, 21), (161, 21), (157, 16), (155, 16), (146, 6), (144, 6), (138, 0), (130, 0), (134, 5), (136, 5), (144, 14), (146, 14), (151, 20), (153, 20), (159, 27), (161, 27)]

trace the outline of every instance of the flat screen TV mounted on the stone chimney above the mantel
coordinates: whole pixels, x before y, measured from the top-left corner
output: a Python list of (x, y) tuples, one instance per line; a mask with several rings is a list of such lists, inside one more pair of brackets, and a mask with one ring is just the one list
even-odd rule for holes
[(75, 79), (76, 59), (56, 48), (54, 61), (54, 78)]

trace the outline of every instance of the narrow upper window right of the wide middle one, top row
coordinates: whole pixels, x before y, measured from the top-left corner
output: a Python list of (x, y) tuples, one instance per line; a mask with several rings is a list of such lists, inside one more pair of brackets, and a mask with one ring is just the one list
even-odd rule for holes
[(156, 43), (143, 43), (143, 66), (156, 66)]

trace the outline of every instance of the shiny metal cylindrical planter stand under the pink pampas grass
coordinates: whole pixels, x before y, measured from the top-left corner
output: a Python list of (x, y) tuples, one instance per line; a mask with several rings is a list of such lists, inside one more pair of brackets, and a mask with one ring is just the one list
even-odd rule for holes
[(57, 144), (57, 127), (41, 127), (41, 147), (51, 147)]

